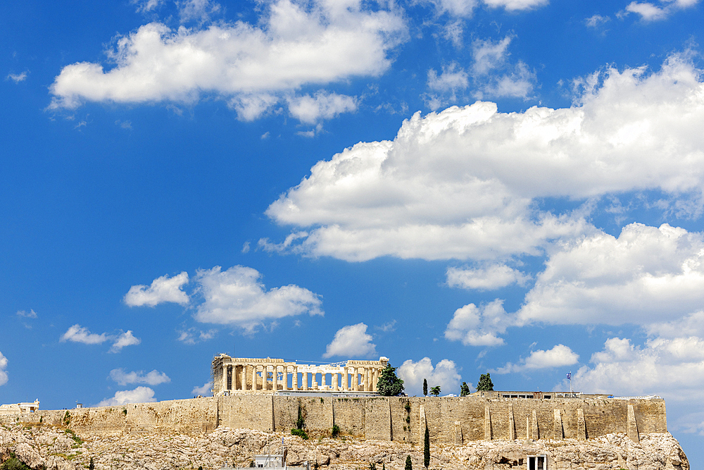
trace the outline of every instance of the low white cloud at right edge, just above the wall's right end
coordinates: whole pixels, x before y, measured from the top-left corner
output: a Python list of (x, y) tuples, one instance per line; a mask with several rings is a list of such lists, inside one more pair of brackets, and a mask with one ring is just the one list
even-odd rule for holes
[(704, 340), (696, 336), (651, 338), (642, 346), (628, 338), (610, 338), (590, 363), (572, 374), (572, 382), (582, 390), (704, 399)]

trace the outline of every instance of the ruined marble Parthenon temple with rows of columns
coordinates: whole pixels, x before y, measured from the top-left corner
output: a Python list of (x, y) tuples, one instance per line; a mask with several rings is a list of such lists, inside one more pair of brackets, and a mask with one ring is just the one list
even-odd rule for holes
[(348, 360), (315, 365), (219, 354), (212, 365), (213, 395), (277, 393), (279, 390), (376, 394), (379, 374), (387, 364), (388, 357), (379, 357), (378, 361)]

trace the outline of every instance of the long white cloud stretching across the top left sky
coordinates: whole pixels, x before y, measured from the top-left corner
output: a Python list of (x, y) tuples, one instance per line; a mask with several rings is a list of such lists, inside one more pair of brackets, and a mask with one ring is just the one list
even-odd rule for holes
[[(182, 1), (181, 14), (202, 17), (215, 5)], [(51, 85), (50, 108), (75, 109), (85, 101), (192, 104), (209, 94), (252, 120), (303, 85), (384, 73), (389, 51), (407, 37), (400, 12), (370, 11), (361, 0), (261, 6), (257, 25), (222, 21), (171, 30), (149, 23), (118, 37), (107, 51), (113, 68), (80, 62), (61, 70)], [(340, 106), (320, 112), (341, 112)]]

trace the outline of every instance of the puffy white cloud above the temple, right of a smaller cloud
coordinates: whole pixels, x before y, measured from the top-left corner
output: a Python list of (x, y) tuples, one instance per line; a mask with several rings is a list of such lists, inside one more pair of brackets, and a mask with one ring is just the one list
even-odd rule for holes
[(265, 290), (261, 274), (246, 266), (221, 271), (220, 266), (196, 273), (203, 302), (194, 318), (203, 323), (236, 325), (248, 331), (264, 321), (301, 314), (322, 315), (320, 296), (297, 285)]

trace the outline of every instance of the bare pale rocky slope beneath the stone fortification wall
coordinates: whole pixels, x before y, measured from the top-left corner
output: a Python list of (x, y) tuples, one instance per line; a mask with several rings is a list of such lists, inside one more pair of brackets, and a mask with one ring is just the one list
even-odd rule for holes
[[(75, 435), (56, 426), (0, 426), (0, 457), (15, 455), (32, 469), (77, 470), (90, 459), (99, 470), (220, 469), (249, 466), (254, 454), (280, 452), (282, 438), (288, 464), (315, 462), (329, 470), (367, 470), (382, 463), (388, 470), (403, 470), (406, 456), (422, 469), (422, 447), (397, 442), (358, 440), (349, 436), (302, 440), (282, 433), (218, 428), (213, 433), (189, 435)], [(589, 441), (493, 440), (463, 446), (432, 445), (430, 469), (526, 468), (527, 454), (546, 454), (552, 469), (689, 470), (689, 462), (670, 433), (642, 435), (633, 443), (616, 433)]]

